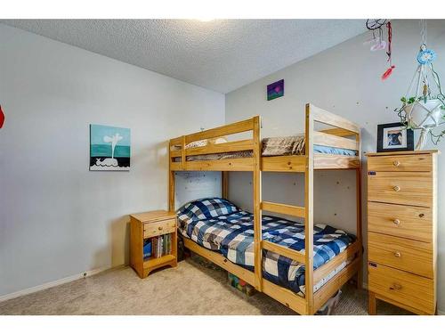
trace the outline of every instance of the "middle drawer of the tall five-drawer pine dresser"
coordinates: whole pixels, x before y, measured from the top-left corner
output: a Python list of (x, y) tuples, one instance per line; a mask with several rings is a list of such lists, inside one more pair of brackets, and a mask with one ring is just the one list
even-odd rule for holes
[(409, 207), (368, 201), (368, 231), (431, 242), (431, 208)]

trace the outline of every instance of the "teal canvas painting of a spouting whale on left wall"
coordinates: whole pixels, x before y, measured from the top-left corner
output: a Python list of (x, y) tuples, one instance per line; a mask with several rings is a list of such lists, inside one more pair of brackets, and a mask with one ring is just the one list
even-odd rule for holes
[(90, 125), (90, 170), (130, 170), (130, 129)]

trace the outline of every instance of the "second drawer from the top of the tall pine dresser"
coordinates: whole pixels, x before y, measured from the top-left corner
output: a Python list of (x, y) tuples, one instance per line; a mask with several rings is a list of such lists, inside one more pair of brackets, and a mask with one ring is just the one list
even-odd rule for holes
[(429, 172), (368, 172), (368, 200), (430, 208), (433, 177)]

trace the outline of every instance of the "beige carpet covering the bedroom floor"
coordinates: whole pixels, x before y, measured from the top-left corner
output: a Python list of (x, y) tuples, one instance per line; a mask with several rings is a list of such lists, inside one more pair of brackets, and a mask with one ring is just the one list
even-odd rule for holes
[[(335, 314), (368, 314), (365, 291), (344, 286)], [(380, 302), (379, 314), (409, 314)], [(227, 273), (182, 261), (141, 280), (123, 267), (0, 303), (0, 314), (295, 314), (271, 297), (247, 297)]]

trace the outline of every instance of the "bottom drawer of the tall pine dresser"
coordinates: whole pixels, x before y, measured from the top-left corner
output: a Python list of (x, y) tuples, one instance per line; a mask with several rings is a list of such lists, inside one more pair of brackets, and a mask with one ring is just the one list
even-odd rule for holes
[(426, 314), (435, 313), (434, 283), (425, 277), (370, 263), (368, 289)]

